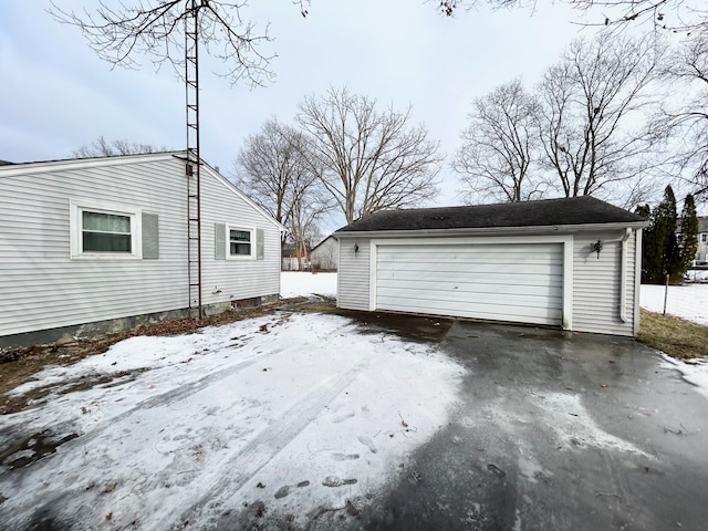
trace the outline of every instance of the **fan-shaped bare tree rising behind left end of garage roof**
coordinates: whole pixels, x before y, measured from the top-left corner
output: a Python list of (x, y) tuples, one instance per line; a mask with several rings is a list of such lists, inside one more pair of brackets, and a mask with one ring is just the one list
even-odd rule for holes
[(306, 158), (347, 223), (383, 209), (419, 205), (435, 196), (442, 157), (423, 125), (410, 126), (410, 108), (376, 110), (376, 102), (331, 88), (308, 96), (298, 123), (308, 138)]

